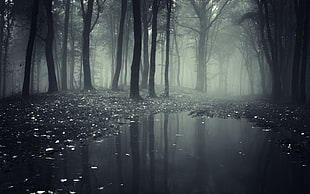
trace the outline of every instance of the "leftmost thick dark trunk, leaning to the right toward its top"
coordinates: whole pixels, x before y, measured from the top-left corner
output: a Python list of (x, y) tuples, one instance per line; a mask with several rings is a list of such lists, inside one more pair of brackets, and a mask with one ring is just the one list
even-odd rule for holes
[(24, 75), (23, 91), (22, 91), (23, 96), (29, 96), (31, 58), (32, 58), (34, 40), (35, 40), (35, 36), (37, 32), (38, 13), (39, 13), (39, 0), (34, 0), (33, 6), (32, 6), (31, 27), (30, 27), (28, 46), (27, 46), (27, 51), (26, 51), (25, 75)]

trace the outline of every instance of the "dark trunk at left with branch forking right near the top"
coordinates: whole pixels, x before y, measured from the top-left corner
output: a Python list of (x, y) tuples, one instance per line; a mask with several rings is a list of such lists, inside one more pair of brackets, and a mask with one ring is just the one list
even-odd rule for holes
[[(83, 0), (81, 0), (83, 4)], [(94, 0), (89, 0), (87, 3), (87, 10), (83, 10), (83, 71), (84, 71), (84, 90), (94, 89), (91, 83), (90, 62), (89, 62), (89, 44), (90, 44), (90, 32), (91, 21), (93, 15)], [(84, 6), (83, 6), (84, 7)]]

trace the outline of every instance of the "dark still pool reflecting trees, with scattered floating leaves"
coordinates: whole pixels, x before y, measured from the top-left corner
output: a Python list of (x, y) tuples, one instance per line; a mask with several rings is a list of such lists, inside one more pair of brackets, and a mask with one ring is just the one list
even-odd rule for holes
[(310, 193), (310, 170), (246, 120), (186, 113), (126, 120), (118, 135), (67, 145), (0, 175), (0, 193)]

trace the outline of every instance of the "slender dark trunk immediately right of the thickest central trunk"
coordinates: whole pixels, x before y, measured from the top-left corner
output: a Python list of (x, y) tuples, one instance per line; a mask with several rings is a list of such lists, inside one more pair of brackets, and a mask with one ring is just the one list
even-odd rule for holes
[(151, 60), (150, 60), (150, 77), (149, 77), (149, 96), (156, 97), (155, 93), (155, 65), (156, 65), (156, 39), (157, 39), (157, 13), (158, 1), (153, 0), (152, 6), (152, 45), (151, 45)]

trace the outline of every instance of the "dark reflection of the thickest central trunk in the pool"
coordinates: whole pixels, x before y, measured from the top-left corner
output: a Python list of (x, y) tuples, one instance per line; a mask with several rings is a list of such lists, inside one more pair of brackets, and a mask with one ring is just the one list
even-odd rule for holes
[(139, 118), (130, 123), (130, 147), (132, 154), (132, 194), (139, 193), (140, 186), (140, 150), (139, 150)]

